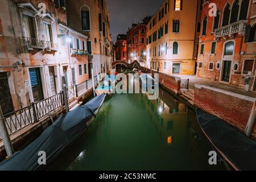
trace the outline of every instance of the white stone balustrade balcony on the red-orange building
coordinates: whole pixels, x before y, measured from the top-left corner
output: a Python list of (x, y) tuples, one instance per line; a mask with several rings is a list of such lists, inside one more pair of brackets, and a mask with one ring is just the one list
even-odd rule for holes
[(214, 30), (214, 37), (234, 36), (234, 34), (245, 35), (247, 20), (240, 20)]

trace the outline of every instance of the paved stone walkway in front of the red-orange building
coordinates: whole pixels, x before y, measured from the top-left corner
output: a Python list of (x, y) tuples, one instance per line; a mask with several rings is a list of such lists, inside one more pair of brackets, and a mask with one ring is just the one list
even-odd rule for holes
[(189, 79), (189, 89), (192, 89), (192, 90), (195, 89), (195, 84), (201, 84), (201, 85), (208, 85), (208, 86), (212, 86), (214, 88), (241, 94), (243, 96), (249, 96), (249, 97), (256, 98), (255, 91), (246, 92), (244, 89), (238, 88), (237, 86), (225, 84), (223, 82), (212, 81), (212, 80), (208, 80), (205, 78), (197, 78), (195, 75), (181, 75), (179, 77), (181, 77), (182, 80)]

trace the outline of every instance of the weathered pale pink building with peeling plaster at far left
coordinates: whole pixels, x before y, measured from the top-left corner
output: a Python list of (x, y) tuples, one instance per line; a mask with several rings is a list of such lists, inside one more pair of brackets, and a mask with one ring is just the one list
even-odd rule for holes
[[(0, 2), (0, 105), (4, 114), (59, 93), (62, 76), (68, 86), (88, 78), (78, 72), (80, 64), (88, 67), (86, 47), (82, 51), (76, 47), (77, 55), (67, 43), (69, 34), (85, 45), (87, 37), (67, 27), (64, 0)], [(46, 7), (45, 14), (40, 3)]]

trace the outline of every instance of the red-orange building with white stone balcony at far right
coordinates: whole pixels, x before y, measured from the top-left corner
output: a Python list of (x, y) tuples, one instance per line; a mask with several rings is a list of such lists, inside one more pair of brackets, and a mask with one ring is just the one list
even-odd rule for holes
[[(215, 16), (209, 3), (217, 5)], [(245, 88), (250, 75), (254, 89), (255, 1), (205, 1), (200, 34), (197, 76)]]

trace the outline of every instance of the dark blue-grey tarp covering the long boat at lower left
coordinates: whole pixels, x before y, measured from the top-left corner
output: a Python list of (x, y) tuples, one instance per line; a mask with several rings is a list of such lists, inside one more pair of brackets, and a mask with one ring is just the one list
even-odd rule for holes
[[(63, 152), (64, 148), (84, 133), (86, 123), (93, 117), (104, 101), (101, 94), (87, 104), (61, 115), (51, 126), (29, 144), (0, 163), (0, 171), (32, 171), (44, 169)], [(39, 151), (46, 152), (46, 166), (39, 165)]]

